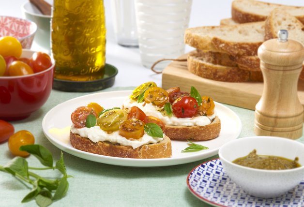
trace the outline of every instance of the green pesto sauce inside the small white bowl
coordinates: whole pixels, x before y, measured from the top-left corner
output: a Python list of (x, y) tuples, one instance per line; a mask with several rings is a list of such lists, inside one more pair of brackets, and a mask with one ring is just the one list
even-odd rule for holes
[(301, 167), (298, 161), (298, 157), (289, 160), (278, 156), (257, 155), (257, 150), (254, 149), (247, 156), (237, 158), (232, 163), (263, 170), (287, 170)]

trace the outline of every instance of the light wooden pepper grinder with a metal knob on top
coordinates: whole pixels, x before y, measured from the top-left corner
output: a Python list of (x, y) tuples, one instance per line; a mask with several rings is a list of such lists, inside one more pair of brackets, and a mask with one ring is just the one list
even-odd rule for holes
[(255, 133), (297, 139), (302, 136), (303, 106), (298, 98), (304, 47), (288, 40), (288, 31), (279, 30), (278, 39), (258, 48), (264, 78), (262, 97), (256, 105)]

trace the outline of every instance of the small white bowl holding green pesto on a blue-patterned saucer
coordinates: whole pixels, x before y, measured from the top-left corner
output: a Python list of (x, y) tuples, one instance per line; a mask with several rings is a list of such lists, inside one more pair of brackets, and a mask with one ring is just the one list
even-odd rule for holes
[[(260, 170), (232, 163), (253, 149), (258, 155), (272, 155), (294, 160), (301, 167), (289, 170)], [(277, 197), (297, 186), (304, 179), (304, 144), (282, 137), (253, 136), (232, 140), (218, 152), (227, 175), (245, 192), (261, 198)]]

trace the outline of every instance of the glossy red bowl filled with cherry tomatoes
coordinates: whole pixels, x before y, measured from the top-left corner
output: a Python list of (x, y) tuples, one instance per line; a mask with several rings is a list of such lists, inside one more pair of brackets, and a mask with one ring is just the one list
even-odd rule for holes
[[(21, 57), (30, 58), (33, 53), (23, 49)], [(0, 119), (27, 118), (46, 103), (53, 86), (52, 62), (50, 68), (36, 74), (0, 77)]]

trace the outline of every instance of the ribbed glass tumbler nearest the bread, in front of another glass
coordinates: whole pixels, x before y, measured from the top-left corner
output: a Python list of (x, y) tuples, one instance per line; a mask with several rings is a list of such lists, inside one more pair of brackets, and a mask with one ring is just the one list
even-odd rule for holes
[[(158, 59), (184, 54), (192, 0), (135, 0), (141, 62), (150, 68)], [(167, 62), (155, 68), (163, 69)]]

